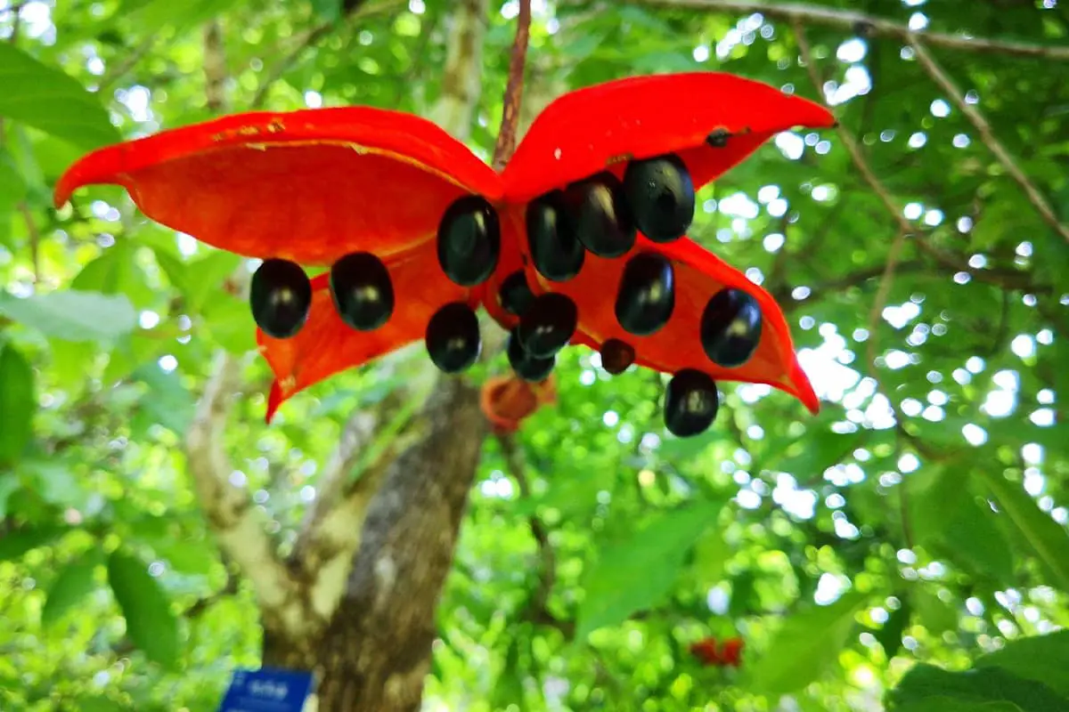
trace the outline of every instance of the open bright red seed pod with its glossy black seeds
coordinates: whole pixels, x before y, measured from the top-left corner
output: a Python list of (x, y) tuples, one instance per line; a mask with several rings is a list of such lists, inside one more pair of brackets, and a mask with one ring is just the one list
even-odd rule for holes
[[(268, 421), (331, 375), (423, 339), (460, 373), (475, 310), (510, 330), (509, 361), (540, 382), (559, 351), (672, 374), (678, 436), (715, 417), (715, 381), (818, 400), (772, 297), (685, 236), (695, 191), (822, 107), (718, 73), (635, 77), (551, 104), (498, 174), (434, 124), (369, 107), (254, 112), (109, 146), (60, 179), (124, 186), (150, 218), (263, 265)], [(329, 266), (309, 280), (299, 265)]]

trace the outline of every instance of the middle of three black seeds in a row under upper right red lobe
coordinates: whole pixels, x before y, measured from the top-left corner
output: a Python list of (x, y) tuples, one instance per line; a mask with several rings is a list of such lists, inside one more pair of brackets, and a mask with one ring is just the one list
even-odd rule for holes
[(564, 192), (575, 236), (599, 257), (619, 257), (635, 244), (635, 222), (623, 186), (611, 173), (573, 183)]

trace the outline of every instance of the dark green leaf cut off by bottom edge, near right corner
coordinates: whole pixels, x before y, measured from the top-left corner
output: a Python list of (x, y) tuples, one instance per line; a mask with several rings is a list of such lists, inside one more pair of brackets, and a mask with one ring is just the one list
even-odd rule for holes
[(1009, 702), (1022, 712), (1069, 709), (1069, 699), (1042, 682), (1019, 678), (1001, 667), (951, 673), (927, 664), (913, 666), (890, 692), (890, 709), (903, 709), (933, 697), (974, 703)]

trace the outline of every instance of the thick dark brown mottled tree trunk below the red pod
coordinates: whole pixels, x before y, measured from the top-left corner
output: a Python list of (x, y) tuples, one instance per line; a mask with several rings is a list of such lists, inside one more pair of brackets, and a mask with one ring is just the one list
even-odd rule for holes
[[(341, 604), (316, 639), (267, 629), (264, 663), (314, 669), (321, 712), (419, 709), (486, 423), (478, 391), (443, 379), (371, 501)], [(266, 622), (266, 621), (265, 621)]]

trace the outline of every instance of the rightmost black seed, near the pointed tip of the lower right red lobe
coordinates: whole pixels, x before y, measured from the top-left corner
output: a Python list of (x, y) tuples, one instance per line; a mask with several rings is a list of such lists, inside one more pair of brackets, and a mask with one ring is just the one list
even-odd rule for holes
[(741, 289), (721, 289), (701, 314), (701, 347), (713, 363), (741, 366), (761, 341), (761, 307)]

